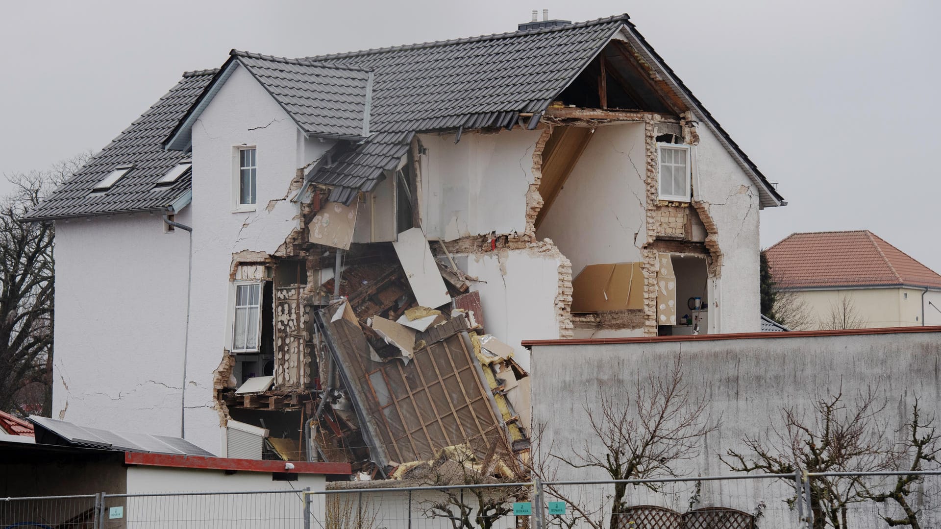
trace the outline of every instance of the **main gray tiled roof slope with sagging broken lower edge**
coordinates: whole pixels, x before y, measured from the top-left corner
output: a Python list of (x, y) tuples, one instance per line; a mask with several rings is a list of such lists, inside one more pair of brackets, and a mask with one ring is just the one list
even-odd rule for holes
[[(371, 136), (313, 176), (336, 185), (328, 200), (371, 190), (407, 152), (413, 132), (505, 127), (539, 112), (614, 34), (627, 15), (536, 31), (425, 42), (308, 60), (375, 73)], [(400, 133), (400, 134), (393, 134)]]

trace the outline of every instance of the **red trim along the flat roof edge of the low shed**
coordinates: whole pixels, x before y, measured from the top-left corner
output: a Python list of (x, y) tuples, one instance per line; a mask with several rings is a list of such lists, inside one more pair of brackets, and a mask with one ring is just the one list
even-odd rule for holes
[(245, 471), (257, 473), (320, 473), (350, 474), (353, 470), (349, 463), (311, 463), (291, 461), (294, 469), (284, 469), (288, 461), (269, 461), (260, 459), (235, 459), (228, 457), (173, 456), (170, 454), (142, 454), (125, 452), (124, 463), (128, 465), (146, 465), (152, 467), (176, 467), (181, 469), (207, 469), (218, 471)]

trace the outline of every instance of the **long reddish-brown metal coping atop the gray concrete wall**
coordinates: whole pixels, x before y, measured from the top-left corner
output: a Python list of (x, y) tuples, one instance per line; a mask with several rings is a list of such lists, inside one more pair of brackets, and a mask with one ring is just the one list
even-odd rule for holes
[(523, 340), (527, 349), (533, 345), (651, 344), (659, 342), (706, 342), (710, 340), (751, 340), (772, 338), (807, 338), (817, 336), (866, 336), (870, 334), (906, 334), (941, 332), (941, 326), (883, 327), (878, 329), (790, 330), (781, 332), (737, 332), (732, 334), (697, 334), (695, 336), (640, 336), (632, 338), (580, 338), (560, 340)]

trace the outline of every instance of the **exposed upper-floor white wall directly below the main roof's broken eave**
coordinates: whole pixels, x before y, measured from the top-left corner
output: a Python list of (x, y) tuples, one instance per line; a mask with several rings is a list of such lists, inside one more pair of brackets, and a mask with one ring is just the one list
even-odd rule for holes
[(429, 239), (526, 232), (526, 192), (542, 131), (420, 135), (420, 217)]

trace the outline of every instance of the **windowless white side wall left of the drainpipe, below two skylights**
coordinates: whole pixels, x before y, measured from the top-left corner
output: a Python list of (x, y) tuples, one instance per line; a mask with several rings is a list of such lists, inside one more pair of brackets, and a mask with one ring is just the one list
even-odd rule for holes
[(56, 221), (54, 419), (180, 435), (188, 252), (158, 215)]

